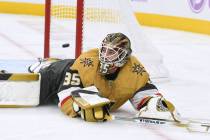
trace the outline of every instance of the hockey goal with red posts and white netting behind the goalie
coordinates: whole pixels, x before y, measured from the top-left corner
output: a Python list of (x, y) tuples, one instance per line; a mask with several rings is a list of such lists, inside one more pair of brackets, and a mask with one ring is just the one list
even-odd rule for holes
[(130, 0), (46, 0), (45, 57), (75, 58), (122, 32), (152, 79), (168, 79), (162, 56), (142, 34)]

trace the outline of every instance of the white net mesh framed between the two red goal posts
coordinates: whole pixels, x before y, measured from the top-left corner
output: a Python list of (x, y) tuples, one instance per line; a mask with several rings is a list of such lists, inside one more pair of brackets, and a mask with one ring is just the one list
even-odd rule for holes
[[(76, 4), (76, 0), (51, 1), (51, 57), (74, 58), (76, 37)], [(63, 44), (70, 44), (70, 47), (63, 48)]]

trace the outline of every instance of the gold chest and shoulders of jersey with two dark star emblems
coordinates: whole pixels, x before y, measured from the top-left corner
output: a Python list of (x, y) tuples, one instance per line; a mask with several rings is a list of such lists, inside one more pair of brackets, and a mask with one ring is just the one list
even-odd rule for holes
[(120, 69), (115, 80), (107, 80), (99, 72), (98, 49), (80, 55), (71, 69), (77, 70), (84, 87), (96, 86), (102, 97), (114, 102), (111, 110), (116, 110), (129, 100), (149, 80), (149, 75), (133, 56)]

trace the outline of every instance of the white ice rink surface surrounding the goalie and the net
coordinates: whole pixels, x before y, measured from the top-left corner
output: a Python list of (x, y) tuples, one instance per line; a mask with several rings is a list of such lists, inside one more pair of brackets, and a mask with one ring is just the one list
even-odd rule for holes
[[(14, 15), (0, 17), (0, 69), (23, 71), (31, 60), (43, 55), (43, 19)], [(176, 105), (182, 116), (210, 119), (210, 36), (159, 28), (143, 29), (162, 53), (170, 72), (170, 81), (157, 83), (162, 94)], [(114, 114), (132, 116), (135, 113), (130, 103), (126, 103)], [(210, 139), (210, 134), (189, 133), (184, 128), (122, 121), (87, 123), (68, 118), (57, 106), (1, 108), (0, 126), (1, 140)]]

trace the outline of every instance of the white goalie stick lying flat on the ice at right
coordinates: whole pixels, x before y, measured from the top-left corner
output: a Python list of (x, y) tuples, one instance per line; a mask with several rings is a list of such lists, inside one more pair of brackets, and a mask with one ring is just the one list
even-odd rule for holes
[(183, 118), (182, 121), (175, 121), (175, 120), (160, 119), (160, 118), (120, 117), (120, 116), (114, 116), (114, 120), (130, 121), (138, 124), (168, 125), (168, 126), (186, 128), (189, 132), (210, 133), (209, 120)]

